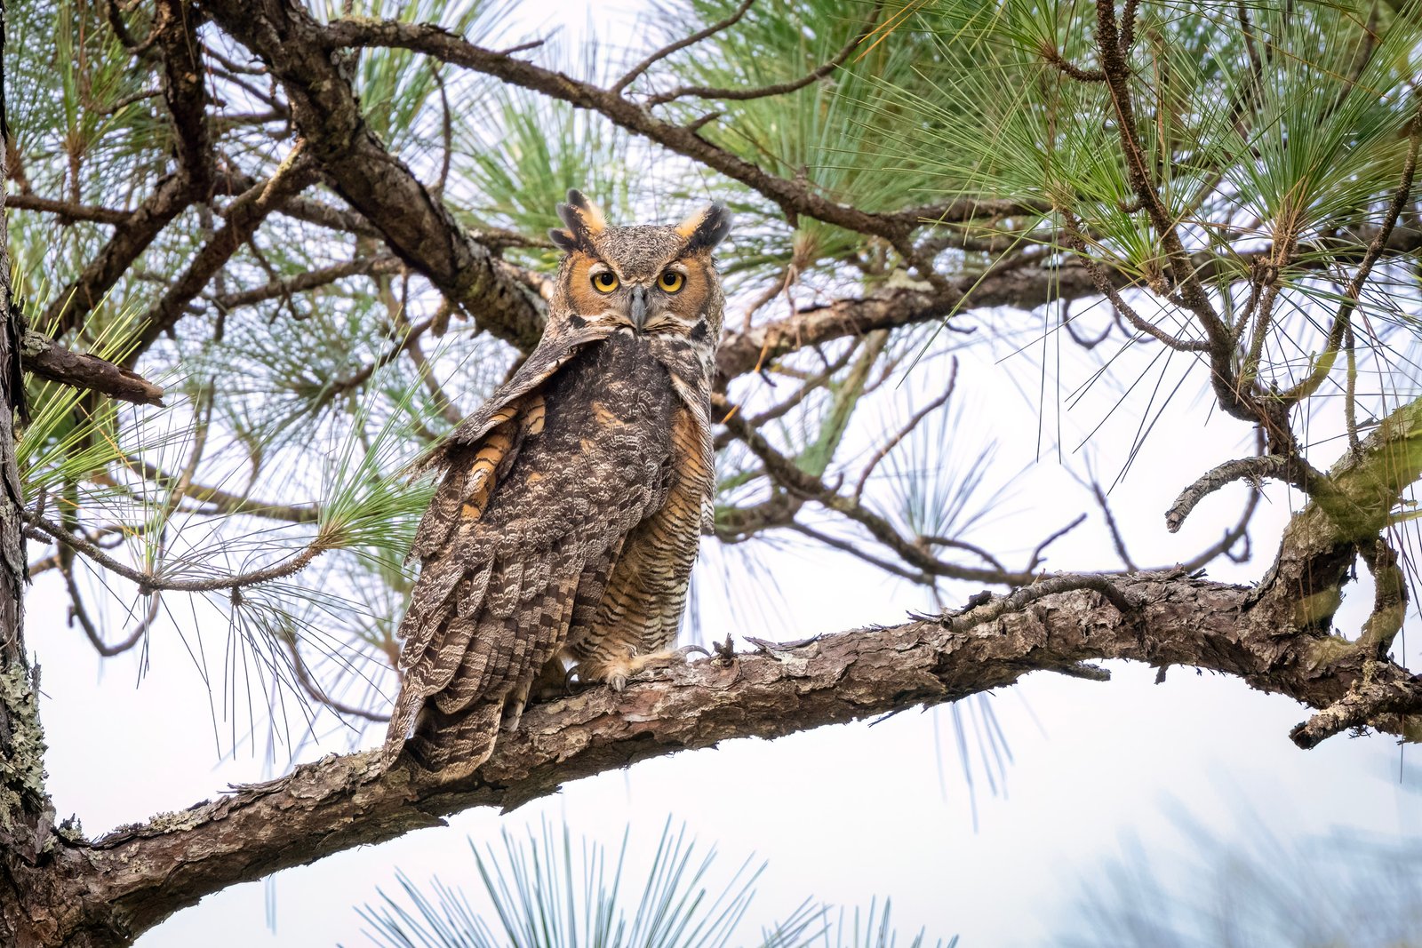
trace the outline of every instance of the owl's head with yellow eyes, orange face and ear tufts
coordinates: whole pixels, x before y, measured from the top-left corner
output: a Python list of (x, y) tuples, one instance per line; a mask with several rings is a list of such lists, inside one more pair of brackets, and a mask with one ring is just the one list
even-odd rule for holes
[(684, 338), (714, 347), (725, 296), (711, 252), (731, 232), (731, 215), (714, 203), (675, 226), (610, 227), (579, 190), (557, 206), (566, 229), (549, 230), (563, 252), (550, 330), (611, 323), (638, 335)]

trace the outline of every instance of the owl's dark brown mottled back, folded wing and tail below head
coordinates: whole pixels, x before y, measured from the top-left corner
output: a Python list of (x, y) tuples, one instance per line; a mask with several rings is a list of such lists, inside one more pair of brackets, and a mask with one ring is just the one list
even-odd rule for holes
[(522, 702), (574, 621), (597, 615), (620, 553), (677, 482), (684, 402), (647, 340), (614, 333), (555, 368), (495, 399), (483, 431), (439, 459), (448, 472), (417, 534), (387, 765), (408, 740), (427, 769), (472, 773), (505, 706)]

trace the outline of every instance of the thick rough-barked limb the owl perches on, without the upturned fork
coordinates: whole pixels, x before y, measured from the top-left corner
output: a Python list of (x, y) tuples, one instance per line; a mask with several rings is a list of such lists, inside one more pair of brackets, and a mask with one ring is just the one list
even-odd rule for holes
[[(1196, 665), (1314, 708), (1331, 706), (1362, 678), (1361, 658), (1313, 671), (1304, 645), (1322, 637), (1280, 635), (1287, 607), (1274, 597), (1251, 603), (1247, 588), (1177, 574), (1138, 576), (1113, 588), (1133, 615), (1099, 591), (1074, 588), (1020, 605), (1010, 598), (1007, 608), (988, 608), (985, 621), (856, 630), (728, 664), (671, 667), (621, 695), (594, 688), (530, 708), (522, 729), (501, 736), (465, 783), (439, 785), (404, 766), (381, 775), (374, 753), (324, 758), (280, 780), (67, 844), (58, 856), (74, 891), (67, 924), (134, 937), (233, 883), (434, 826), (472, 806), (508, 810), (647, 758), (931, 706), (1011, 685), (1030, 671), (1076, 674), (1081, 662), (1106, 658)], [(1368, 677), (1396, 696), (1395, 715), (1422, 711), (1422, 684), (1405, 669), (1374, 662)], [(1389, 721), (1411, 733), (1411, 721)]]

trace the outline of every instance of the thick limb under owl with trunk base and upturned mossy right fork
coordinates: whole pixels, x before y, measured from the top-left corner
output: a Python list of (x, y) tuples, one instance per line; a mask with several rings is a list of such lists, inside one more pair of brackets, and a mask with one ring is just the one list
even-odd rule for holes
[(1330, 472), (1332, 492), (1294, 516), (1257, 587), (1180, 571), (1058, 576), (953, 615), (755, 642), (752, 654), (673, 665), (621, 695), (594, 688), (535, 706), (466, 782), (408, 766), (381, 773), (374, 753), (331, 756), (95, 841), (50, 834), (41, 787), (11, 807), (38, 822), (7, 840), (0, 920), (17, 920), (13, 944), (124, 945), (209, 893), (466, 807), (510, 809), (651, 756), (931, 706), (1031, 671), (1099, 678), (1084, 665), (1094, 659), (1193, 665), (1288, 695), (1321, 712), (1293, 733), (1305, 746), (1364, 723), (1422, 739), (1422, 679), (1376, 642), (1331, 632), (1342, 567), (1419, 475), (1422, 399)]

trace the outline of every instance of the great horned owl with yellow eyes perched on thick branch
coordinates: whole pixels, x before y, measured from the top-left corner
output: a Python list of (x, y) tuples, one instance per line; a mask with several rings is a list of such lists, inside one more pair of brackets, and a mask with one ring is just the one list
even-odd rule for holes
[(711, 377), (725, 297), (721, 205), (610, 227), (577, 190), (543, 338), (431, 456), (444, 482), (411, 556), (401, 688), (385, 736), (472, 773), (539, 681), (621, 689), (667, 654), (711, 516)]

